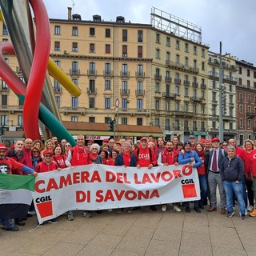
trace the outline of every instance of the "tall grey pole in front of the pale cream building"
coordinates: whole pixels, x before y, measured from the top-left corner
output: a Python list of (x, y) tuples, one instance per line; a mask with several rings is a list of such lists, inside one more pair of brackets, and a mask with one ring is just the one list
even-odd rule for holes
[(219, 42), (219, 131), (218, 137), (223, 142), (223, 67), (222, 67), (222, 42)]

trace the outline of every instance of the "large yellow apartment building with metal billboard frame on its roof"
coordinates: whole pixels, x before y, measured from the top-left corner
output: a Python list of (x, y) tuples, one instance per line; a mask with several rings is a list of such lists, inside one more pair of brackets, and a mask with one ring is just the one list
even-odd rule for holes
[[(186, 22), (184, 34), (167, 30), (157, 11), (151, 24), (122, 16), (84, 21), (70, 8), (67, 19), (50, 19), (50, 57), (82, 89), (80, 97), (71, 96), (51, 78), (63, 121), (106, 123), (115, 117), (122, 125), (160, 126), (169, 138), (208, 135), (208, 47), (201, 28)], [(1, 26), (2, 41), (10, 40)], [(6, 56), (6, 62), (22, 79), (16, 58)], [(1, 91), (2, 126), (22, 126), (22, 102), (5, 82)]]

